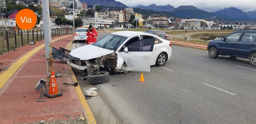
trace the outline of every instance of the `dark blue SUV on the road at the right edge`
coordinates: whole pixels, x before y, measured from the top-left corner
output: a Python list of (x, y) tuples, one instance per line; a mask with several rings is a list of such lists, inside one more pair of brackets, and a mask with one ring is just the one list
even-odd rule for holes
[(219, 40), (212, 40), (207, 46), (210, 58), (219, 55), (249, 59), (256, 66), (256, 30), (240, 30)]

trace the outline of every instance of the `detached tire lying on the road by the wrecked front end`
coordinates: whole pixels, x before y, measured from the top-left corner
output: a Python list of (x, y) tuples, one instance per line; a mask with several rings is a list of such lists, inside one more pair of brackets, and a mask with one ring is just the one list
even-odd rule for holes
[(99, 84), (99, 83), (105, 83), (109, 80), (109, 72), (107, 71), (99, 71), (97, 72), (89, 73), (87, 75), (87, 81), (90, 84)]

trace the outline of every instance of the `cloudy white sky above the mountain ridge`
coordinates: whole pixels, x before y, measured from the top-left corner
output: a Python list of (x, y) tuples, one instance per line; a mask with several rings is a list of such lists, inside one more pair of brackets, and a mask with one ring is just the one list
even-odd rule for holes
[(138, 5), (148, 6), (150, 4), (156, 5), (172, 5), (174, 8), (179, 6), (192, 5), (198, 9), (216, 12), (224, 8), (235, 7), (244, 12), (256, 10), (256, 0), (116, 0), (126, 6), (135, 7)]

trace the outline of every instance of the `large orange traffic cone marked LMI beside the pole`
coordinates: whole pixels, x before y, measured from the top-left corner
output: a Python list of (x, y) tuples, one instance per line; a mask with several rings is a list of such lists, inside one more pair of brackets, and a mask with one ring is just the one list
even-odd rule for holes
[(62, 93), (58, 92), (58, 87), (57, 87), (57, 82), (56, 82), (56, 79), (55, 79), (54, 71), (51, 72), (49, 91), (44, 92), (44, 95), (48, 98), (54, 98), (54, 97), (62, 96)]

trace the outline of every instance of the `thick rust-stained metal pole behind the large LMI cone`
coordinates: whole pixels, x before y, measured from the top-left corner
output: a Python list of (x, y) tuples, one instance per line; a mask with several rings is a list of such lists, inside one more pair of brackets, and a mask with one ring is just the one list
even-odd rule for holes
[(52, 38), (51, 38), (51, 21), (49, 12), (49, 0), (42, 0), (43, 19), (44, 19), (44, 44), (46, 57), (46, 71), (48, 81), (50, 81), (51, 71), (53, 71), (53, 56), (52, 56)]

